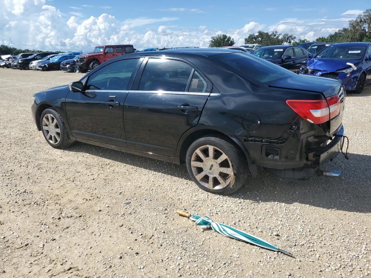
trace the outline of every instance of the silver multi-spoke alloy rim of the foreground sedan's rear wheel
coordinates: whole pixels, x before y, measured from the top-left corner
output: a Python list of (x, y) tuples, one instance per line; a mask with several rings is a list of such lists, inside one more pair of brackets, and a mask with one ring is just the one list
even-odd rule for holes
[(194, 151), (191, 168), (197, 181), (212, 190), (223, 189), (234, 179), (228, 156), (211, 145), (201, 146)]

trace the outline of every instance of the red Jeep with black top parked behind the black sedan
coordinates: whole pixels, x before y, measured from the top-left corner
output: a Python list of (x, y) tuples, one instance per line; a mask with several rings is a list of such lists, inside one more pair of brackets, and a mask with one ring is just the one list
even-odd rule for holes
[(132, 44), (96, 46), (93, 53), (79, 57), (76, 64), (77, 69), (79, 72), (85, 73), (116, 56), (134, 53), (134, 50)]

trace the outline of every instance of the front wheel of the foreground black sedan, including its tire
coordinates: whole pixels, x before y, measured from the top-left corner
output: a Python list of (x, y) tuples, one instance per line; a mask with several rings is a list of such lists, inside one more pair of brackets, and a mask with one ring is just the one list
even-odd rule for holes
[(45, 109), (40, 117), (40, 127), (44, 138), (50, 146), (64, 149), (72, 145), (72, 140), (59, 113), (51, 108)]

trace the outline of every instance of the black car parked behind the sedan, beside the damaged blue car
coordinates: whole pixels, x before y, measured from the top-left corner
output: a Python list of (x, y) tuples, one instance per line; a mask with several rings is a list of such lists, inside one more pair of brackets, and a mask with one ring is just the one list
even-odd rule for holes
[(273, 45), (264, 46), (255, 50), (251, 54), (263, 58), (292, 72), (299, 71), (300, 67), (305, 64), (312, 55), (305, 49), (292, 45)]

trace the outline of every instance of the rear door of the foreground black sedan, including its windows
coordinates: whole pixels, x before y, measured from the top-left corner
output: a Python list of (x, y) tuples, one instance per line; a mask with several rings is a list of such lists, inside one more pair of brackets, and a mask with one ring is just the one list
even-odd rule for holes
[(181, 59), (145, 58), (125, 100), (128, 148), (175, 156), (180, 137), (197, 125), (211, 87)]

